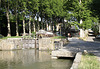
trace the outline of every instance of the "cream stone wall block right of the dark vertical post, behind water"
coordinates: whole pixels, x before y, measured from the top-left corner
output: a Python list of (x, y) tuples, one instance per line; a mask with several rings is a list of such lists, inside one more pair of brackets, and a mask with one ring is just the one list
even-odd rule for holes
[(61, 39), (42, 38), (39, 39), (39, 50), (58, 50), (63, 47)]

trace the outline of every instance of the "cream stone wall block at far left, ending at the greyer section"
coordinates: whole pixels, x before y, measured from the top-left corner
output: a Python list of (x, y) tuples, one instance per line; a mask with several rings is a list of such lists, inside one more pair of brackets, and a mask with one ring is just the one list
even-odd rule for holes
[(8, 38), (0, 42), (0, 50), (22, 49), (22, 39)]

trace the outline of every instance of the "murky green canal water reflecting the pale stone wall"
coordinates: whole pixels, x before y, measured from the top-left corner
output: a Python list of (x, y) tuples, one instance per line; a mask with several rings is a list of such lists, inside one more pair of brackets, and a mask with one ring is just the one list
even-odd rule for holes
[(51, 59), (50, 51), (0, 51), (0, 69), (70, 69), (72, 60)]

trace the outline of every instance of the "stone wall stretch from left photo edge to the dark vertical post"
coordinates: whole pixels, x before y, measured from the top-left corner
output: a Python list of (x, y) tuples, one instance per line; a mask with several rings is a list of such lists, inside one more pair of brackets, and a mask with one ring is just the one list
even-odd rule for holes
[(30, 48), (38, 48), (38, 40), (8, 38), (6, 40), (0, 41), (0, 50), (18, 50), (18, 49), (30, 49)]

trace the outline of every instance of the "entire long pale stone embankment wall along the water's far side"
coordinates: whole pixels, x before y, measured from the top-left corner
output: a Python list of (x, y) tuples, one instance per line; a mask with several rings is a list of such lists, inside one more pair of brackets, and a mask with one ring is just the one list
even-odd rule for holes
[(66, 44), (65, 39), (52, 38), (8, 38), (0, 41), (0, 50), (39, 48), (39, 50), (58, 50)]

